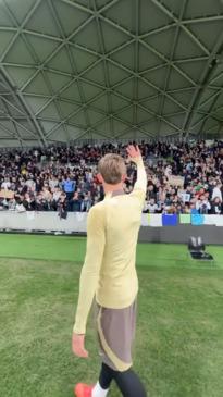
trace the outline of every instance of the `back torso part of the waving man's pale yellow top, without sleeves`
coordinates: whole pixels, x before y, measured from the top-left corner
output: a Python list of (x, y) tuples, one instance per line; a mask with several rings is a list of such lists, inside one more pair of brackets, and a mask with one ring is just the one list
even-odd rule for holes
[(92, 211), (100, 211), (106, 229), (104, 251), (96, 299), (107, 308), (125, 308), (135, 299), (138, 280), (136, 245), (144, 197), (140, 191), (107, 195)]

